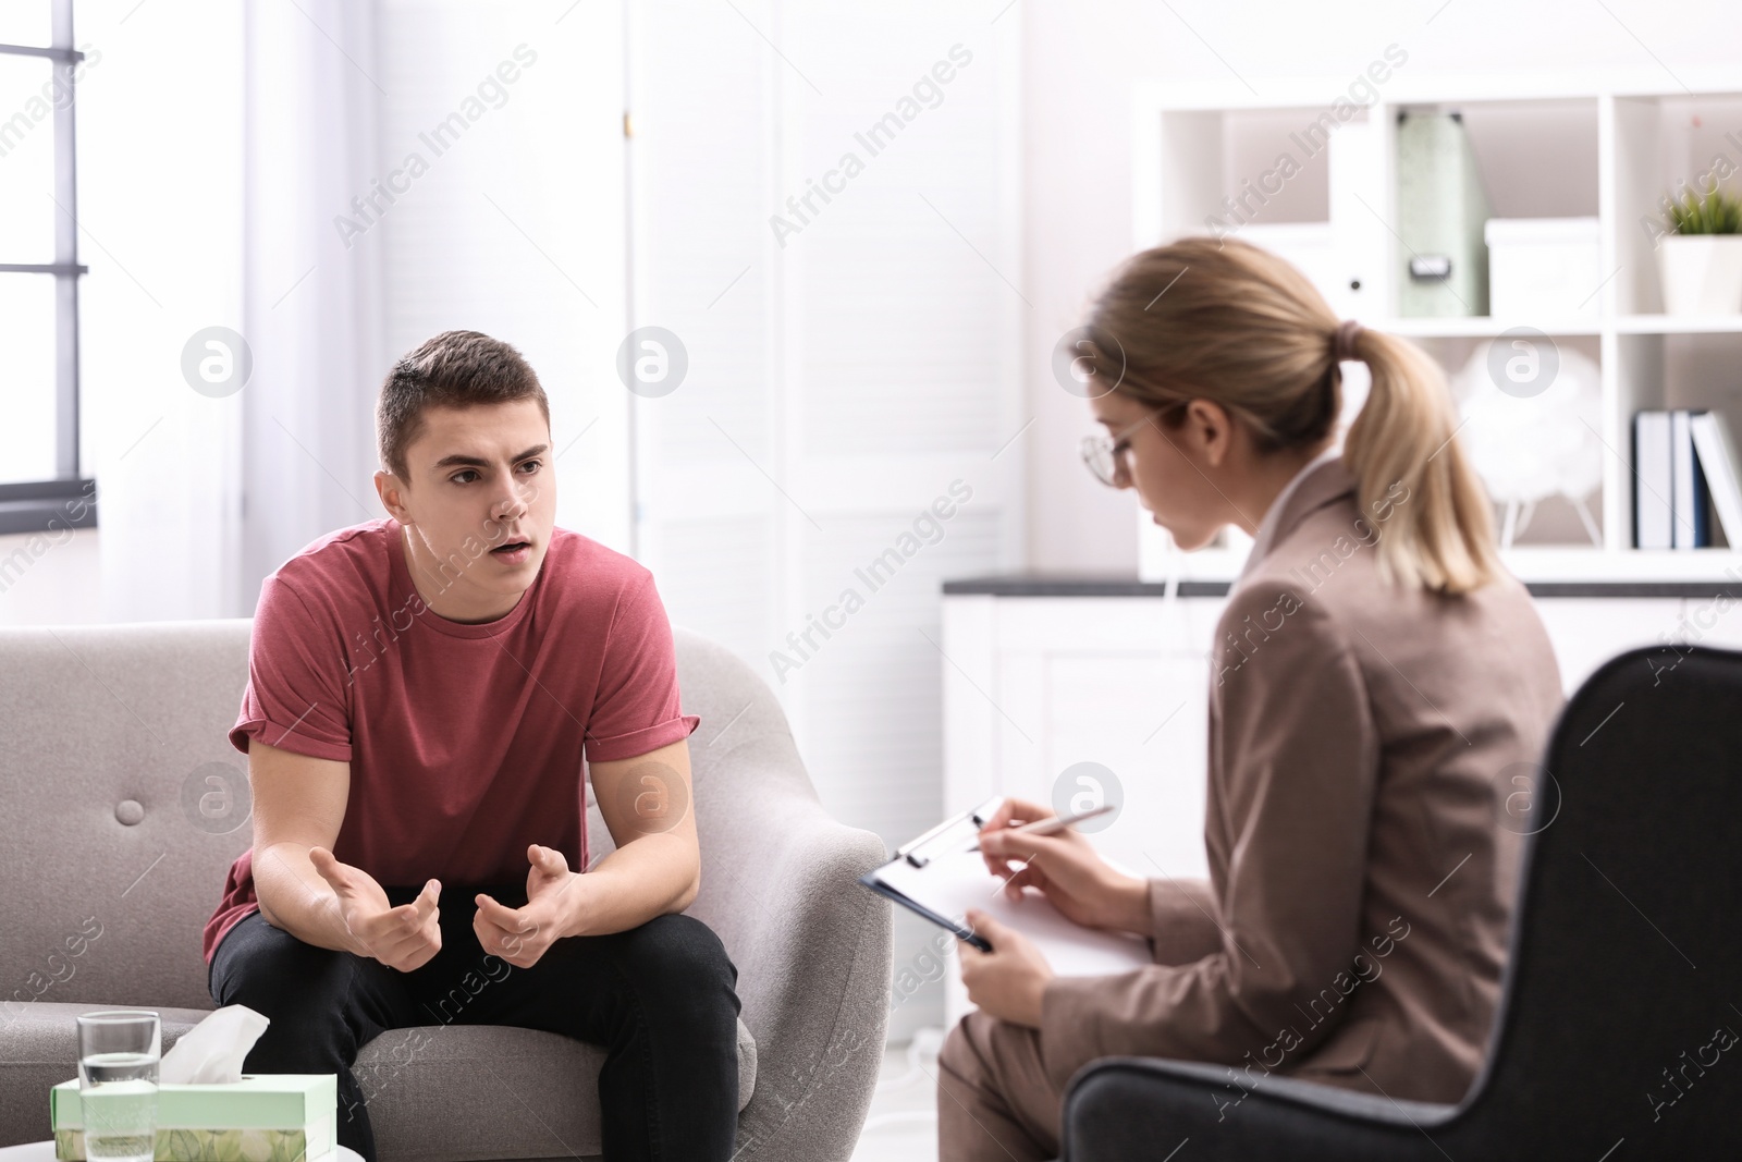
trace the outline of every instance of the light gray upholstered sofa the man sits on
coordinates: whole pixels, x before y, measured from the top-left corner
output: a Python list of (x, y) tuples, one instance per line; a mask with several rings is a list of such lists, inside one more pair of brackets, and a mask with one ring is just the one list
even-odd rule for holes
[[(253, 831), (225, 739), (247, 634), (246, 618), (0, 631), (0, 1146), (49, 1138), (75, 1014), (157, 1009), (167, 1051), (214, 1007), (200, 929)], [(854, 880), (883, 843), (822, 810), (747, 665), (679, 631), (678, 671), (702, 718), (690, 915), (725, 941), (744, 1003), (735, 1159), (848, 1159), (892, 955), (888, 904)], [(604, 855), (596, 807), (589, 826)], [(554, 1033), (444, 1024), (383, 1033), (355, 1073), (385, 1162), (589, 1159), (601, 1061)]]

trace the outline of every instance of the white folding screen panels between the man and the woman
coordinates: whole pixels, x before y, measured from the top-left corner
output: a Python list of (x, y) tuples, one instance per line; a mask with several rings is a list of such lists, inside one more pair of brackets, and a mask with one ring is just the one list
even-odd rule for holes
[(939, 582), (1023, 559), (1017, 24), (631, 12), (638, 556), (901, 841), (942, 805)]

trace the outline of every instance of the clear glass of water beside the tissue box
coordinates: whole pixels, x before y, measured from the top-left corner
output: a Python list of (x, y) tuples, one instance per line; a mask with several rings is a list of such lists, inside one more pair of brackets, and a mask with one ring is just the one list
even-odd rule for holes
[(152, 1162), (162, 1037), (150, 1010), (78, 1017), (78, 1105), (89, 1162)]

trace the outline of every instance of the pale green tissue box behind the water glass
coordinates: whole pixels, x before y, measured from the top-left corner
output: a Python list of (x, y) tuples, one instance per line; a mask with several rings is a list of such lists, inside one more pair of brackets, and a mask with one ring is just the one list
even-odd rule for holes
[[(49, 1091), (54, 1157), (85, 1157), (78, 1078)], [(155, 1162), (322, 1162), (336, 1157), (336, 1073), (244, 1073), (157, 1087)]]

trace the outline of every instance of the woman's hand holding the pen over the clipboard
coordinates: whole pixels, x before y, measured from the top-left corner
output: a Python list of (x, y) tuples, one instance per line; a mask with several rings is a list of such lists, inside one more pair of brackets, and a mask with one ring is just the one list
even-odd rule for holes
[(1150, 934), (1150, 885), (1115, 871), (1089, 838), (1064, 828), (1052, 834), (1017, 831), (1016, 824), (1050, 819), (1052, 810), (1007, 798), (979, 833), (986, 869), (1005, 880), (1005, 894), (1019, 899), (1033, 885), (1066, 918), (1090, 929)]

